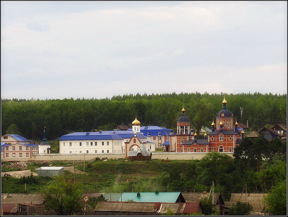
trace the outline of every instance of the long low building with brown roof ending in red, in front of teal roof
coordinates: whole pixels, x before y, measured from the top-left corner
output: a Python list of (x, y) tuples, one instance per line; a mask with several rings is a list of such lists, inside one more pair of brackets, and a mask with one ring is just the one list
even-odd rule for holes
[(153, 216), (167, 214), (170, 209), (175, 215), (202, 213), (201, 203), (161, 203), (161, 202), (108, 202), (99, 201), (95, 215)]

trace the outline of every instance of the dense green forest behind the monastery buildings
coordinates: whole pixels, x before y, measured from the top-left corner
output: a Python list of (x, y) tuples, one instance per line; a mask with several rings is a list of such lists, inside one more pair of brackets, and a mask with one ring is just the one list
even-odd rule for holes
[[(131, 124), (137, 115), (141, 125), (162, 126), (175, 130), (184, 106), (196, 131), (211, 127), (222, 109), (224, 93), (126, 94), (105, 99), (1, 99), (1, 133), (21, 134), (41, 140), (43, 126), (47, 139), (58, 139), (69, 132), (112, 130), (116, 125)], [(227, 109), (238, 123), (249, 130), (287, 122), (287, 94), (225, 94)], [(12, 127), (13, 126), (13, 127)]]

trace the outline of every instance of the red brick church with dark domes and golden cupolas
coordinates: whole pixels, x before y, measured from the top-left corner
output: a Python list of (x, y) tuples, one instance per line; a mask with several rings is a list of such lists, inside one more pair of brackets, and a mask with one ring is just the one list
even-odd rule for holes
[(175, 146), (176, 152), (233, 152), (234, 148), (240, 144), (244, 138), (244, 132), (238, 130), (238, 123), (233, 114), (226, 109), (226, 100), (222, 102), (223, 109), (216, 115), (211, 124), (212, 132), (204, 134), (204, 139), (197, 139), (197, 133), (193, 134), (190, 128), (190, 119), (185, 116), (183, 106), (182, 116), (177, 120), (177, 134)]

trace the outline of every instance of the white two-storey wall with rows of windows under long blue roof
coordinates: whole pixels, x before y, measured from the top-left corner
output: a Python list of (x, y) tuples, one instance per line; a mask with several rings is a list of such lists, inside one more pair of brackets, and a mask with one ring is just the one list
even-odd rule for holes
[(122, 139), (59, 141), (60, 154), (122, 153)]

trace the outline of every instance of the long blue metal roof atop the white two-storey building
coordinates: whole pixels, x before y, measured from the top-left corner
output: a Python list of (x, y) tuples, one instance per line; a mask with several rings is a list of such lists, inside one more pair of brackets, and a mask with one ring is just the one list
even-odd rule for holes
[[(134, 134), (133, 134), (134, 135)], [(105, 140), (105, 139), (120, 139), (120, 135), (110, 133), (109, 131), (102, 132), (74, 132), (61, 136), (58, 140)]]

